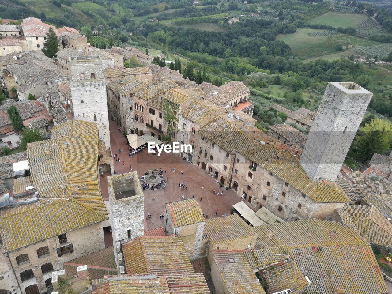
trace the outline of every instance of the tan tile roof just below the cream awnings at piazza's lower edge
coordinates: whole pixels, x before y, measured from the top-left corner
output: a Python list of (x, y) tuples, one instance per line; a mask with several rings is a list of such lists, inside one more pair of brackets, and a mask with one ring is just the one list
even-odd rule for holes
[(252, 236), (254, 236), (253, 229), (237, 214), (205, 221), (203, 240), (210, 240), (212, 244), (227, 243)]

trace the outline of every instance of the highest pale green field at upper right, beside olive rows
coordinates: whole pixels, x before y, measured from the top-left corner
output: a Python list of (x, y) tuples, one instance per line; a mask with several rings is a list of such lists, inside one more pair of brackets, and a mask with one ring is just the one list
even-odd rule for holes
[(357, 25), (367, 18), (366, 15), (354, 13), (333, 13), (327, 12), (310, 20), (310, 24), (331, 25), (333, 27), (357, 27)]

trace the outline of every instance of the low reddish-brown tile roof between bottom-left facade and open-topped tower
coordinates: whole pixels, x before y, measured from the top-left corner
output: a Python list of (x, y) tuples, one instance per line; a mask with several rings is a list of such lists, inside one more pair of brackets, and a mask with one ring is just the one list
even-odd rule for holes
[(65, 269), (67, 276), (75, 276), (76, 267), (82, 265), (87, 265), (90, 280), (102, 279), (103, 276), (114, 275), (118, 272), (113, 255), (113, 246), (69, 260), (64, 263), (63, 269)]

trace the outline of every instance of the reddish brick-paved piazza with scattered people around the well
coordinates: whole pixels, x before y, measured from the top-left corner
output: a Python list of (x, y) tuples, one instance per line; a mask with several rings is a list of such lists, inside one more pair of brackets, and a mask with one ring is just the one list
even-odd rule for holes
[[(144, 229), (151, 230), (157, 227), (162, 227), (162, 220), (160, 220), (160, 214), (163, 213), (165, 203), (180, 201), (181, 196), (184, 194), (185, 199), (192, 198), (195, 195), (196, 201), (200, 203), (200, 207), (203, 213), (208, 214), (208, 218), (215, 217), (215, 211), (218, 208), (218, 217), (230, 213), (232, 205), (241, 201), (241, 197), (238, 196), (232, 190), (223, 190), (223, 197), (214, 195), (214, 189), (218, 189), (219, 185), (216, 180), (211, 178), (202, 169), (192, 165), (178, 155), (178, 153), (165, 153), (162, 152), (161, 156), (153, 155), (147, 152), (147, 148), (142, 152), (128, 157), (128, 145), (124, 135), (117, 131), (117, 126), (114, 122), (110, 122), (110, 140), (111, 147), (114, 153), (117, 153), (120, 158), (120, 163), (114, 162), (114, 170), (117, 174), (129, 172), (129, 165), (132, 166), (132, 171), (137, 171), (138, 176), (142, 176), (149, 169), (162, 168), (166, 170), (166, 174), (163, 176), (169, 178), (166, 190), (154, 190), (144, 191)], [(118, 154), (118, 149), (123, 149), (124, 154)], [(124, 165), (123, 162), (124, 161)], [(173, 172), (173, 168), (176, 168), (176, 172)], [(181, 176), (180, 172), (183, 171)], [(101, 191), (104, 200), (108, 200), (107, 192), (107, 176), (101, 179)], [(188, 187), (187, 191), (179, 187), (179, 184), (183, 182)], [(200, 202), (200, 197), (203, 200)], [(152, 214), (152, 218), (146, 220), (147, 213)]]

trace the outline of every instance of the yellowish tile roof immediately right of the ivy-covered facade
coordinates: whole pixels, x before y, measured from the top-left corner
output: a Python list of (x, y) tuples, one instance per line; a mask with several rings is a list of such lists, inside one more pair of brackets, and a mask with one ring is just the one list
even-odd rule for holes
[(180, 114), (192, 122), (200, 124), (204, 118), (210, 117), (212, 119), (219, 111), (222, 111), (221, 107), (207, 100), (199, 100), (191, 103)]

